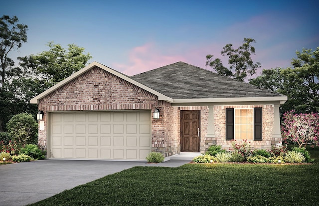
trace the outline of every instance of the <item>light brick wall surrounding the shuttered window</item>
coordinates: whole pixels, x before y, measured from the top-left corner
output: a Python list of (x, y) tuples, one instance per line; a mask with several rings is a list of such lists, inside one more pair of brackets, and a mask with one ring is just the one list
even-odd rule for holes
[[(224, 149), (230, 148), (230, 142), (226, 141), (226, 108), (263, 108), (263, 140), (250, 141), (255, 149), (270, 149), (273, 135), (274, 107), (272, 105), (243, 105), (243, 106), (214, 106), (216, 145), (222, 145)], [(241, 140), (236, 140), (240, 142)]]

